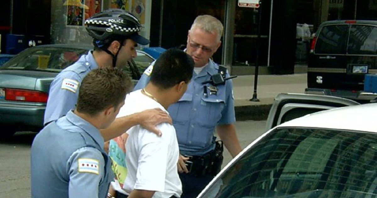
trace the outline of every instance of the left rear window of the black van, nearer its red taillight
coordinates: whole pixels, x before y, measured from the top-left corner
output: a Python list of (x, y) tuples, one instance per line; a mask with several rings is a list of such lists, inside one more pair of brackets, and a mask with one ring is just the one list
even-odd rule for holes
[(328, 25), (321, 29), (314, 52), (316, 54), (345, 54), (348, 25)]

